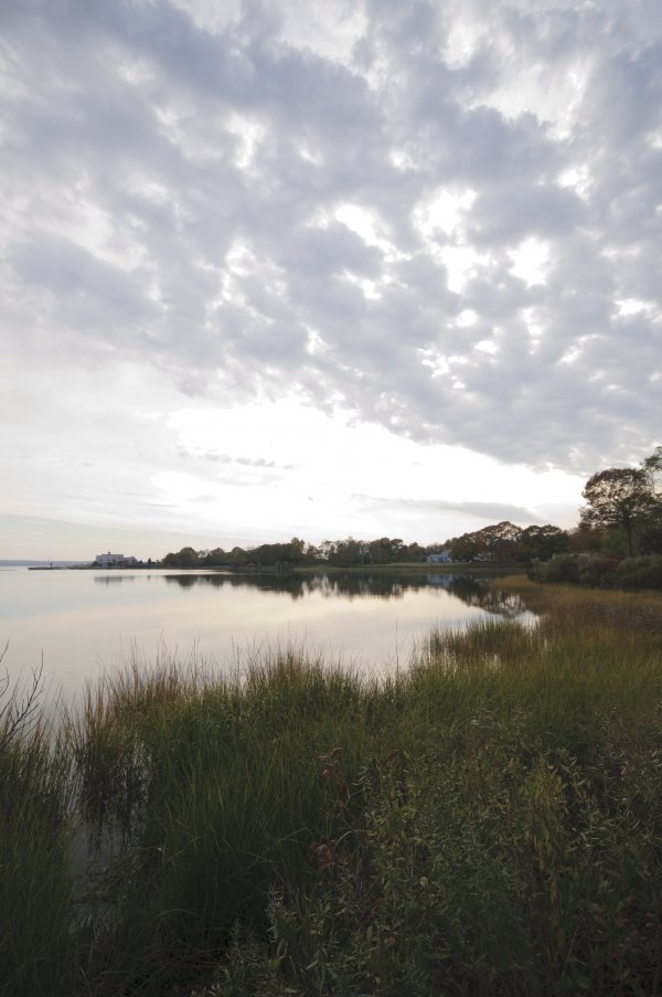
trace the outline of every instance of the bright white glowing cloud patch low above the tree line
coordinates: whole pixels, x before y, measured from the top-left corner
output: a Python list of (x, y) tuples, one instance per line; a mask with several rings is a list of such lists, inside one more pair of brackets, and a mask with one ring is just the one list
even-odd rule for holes
[[(245, 532), (266, 517), (295, 531), (300, 523), (298, 529), (307, 527), (317, 541), (323, 539), (320, 530), (327, 535), (333, 528), (333, 535), (373, 535), (371, 517), (380, 505), (397, 510), (401, 520), (408, 517), (410, 529), (428, 539), (441, 535), (449, 509), (470, 529), (481, 515), (485, 480), (492, 503), (505, 508), (516, 496), (528, 507), (519, 511), (530, 521), (543, 502), (558, 502), (566, 516), (576, 503), (578, 481), (572, 476), (509, 468), (460, 448), (420, 446), (354, 420), (355, 413), (325, 415), (296, 397), (204, 413), (180, 410), (168, 425), (195, 470), (163, 471), (156, 485), (182, 510), (204, 498), (199, 515), (225, 530), (231, 522)], [(217, 470), (209, 463), (215, 450), (223, 455)]]

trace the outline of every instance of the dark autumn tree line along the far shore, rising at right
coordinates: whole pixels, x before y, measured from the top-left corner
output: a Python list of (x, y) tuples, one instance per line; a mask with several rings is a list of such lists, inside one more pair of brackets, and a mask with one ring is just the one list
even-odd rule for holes
[(184, 547), (162, 560), (166, 568), (355, 568), (420, 563), (430, 554), (456, 562), (523, 564), (565, 555), (602, 553), (618, 561), (662, 555), (662, 446), (639, 467), (610, 467), (594, 474), (583, 490), (586, 505), (574, 530), (551, 523), (519, 527), (504, 520), (433, 544), (399, 538), (324, 540), (319, 545), (293, 537), (287, 543), (263, 543), (232, 550), (196, 551)]

